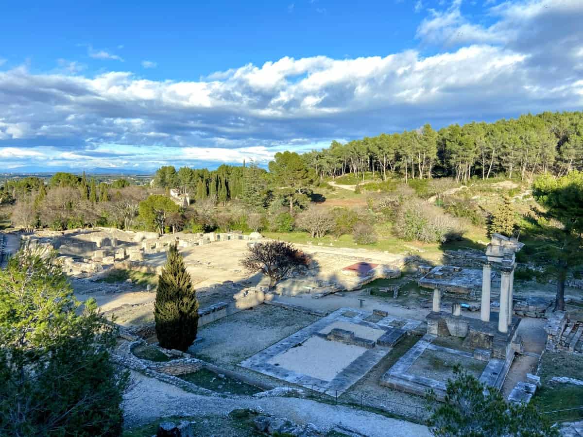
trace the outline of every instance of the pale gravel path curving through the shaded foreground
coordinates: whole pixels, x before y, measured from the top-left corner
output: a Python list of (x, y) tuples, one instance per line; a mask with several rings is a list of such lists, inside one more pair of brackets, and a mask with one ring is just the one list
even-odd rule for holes
[(125, 395), (124, 416), (127, 427), (136, 427), (168, 415), (228, 414), (234, 408), (261, 407), (266, 413), (286, 417), (298, 424), (308, 422), (328, 432), (335, 425), (359, 431), (370, 437), (429, 437), (427, 427), (356, 410), (345, 406), (322, 404), (295, 397), (233, 399), (206, 397), (132, 372), (136, 384)]

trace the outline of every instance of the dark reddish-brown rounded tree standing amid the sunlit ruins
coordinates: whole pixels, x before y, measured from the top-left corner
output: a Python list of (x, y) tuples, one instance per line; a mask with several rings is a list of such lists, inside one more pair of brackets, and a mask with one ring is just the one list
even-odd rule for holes
[(286, 274), (305, 266), (310, 259), (300, 249), (285, 241), (268, 241), (250, 244), (247, 256), (241, 260), (241, 265), (250, 273), (262, 272), (269, 276), (269, 288)]

